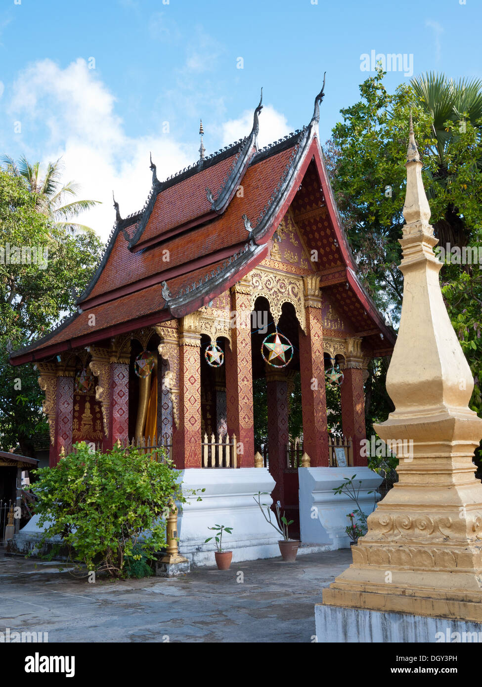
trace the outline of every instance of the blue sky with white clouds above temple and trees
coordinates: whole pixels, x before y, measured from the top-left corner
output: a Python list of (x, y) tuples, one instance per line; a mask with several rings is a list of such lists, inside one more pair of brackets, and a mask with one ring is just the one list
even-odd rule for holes
[(149, 150), (162, 179), (197, 158), (199, 117), (207, 153), (249, 133), (261, 86), (267, 144), (309, 122), (326, 69), (324, 142), (369, 76), (362, 54), (481, 78), (482, 3), (462, 1), (1, 0), (0, 153), (62, 157), (105, 238), (112, 189), (122, 214), (142, 207)]

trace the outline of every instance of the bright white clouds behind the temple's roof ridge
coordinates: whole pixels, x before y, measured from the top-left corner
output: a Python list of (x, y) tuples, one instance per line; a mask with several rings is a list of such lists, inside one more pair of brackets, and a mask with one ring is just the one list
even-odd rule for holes
[[(42, 126), (46, 127), (46, 132), (41, 132), (44, 139), (39, 133), (43, 164), (62, 157), (63, 179), (79, 183), (79, 197), (102, 201), (79, 221), (93, 227), (103, 240), (115, 218), (112, 191), (122, 216), (144, 205), (151, 188), (149, 151), (157, 164), (157, 177), (162, 180), (191, 164), (199, 146), (197, 138), (184, 144), (162, 133), (161, 124), (149, 135), (129, 137), (115, 107), (116, 98), (83, 59), (65, 69), (52, 60), (30, 65), (14, 82), (8, 104), (10, 113), (21, 120), (23, 131), (40, 132)], [(212, 129), (217, 129), (219, 137), (222, 135), (222, 145), (230, 144), (250, 132), (252, 117), (252, 110), (245, 111), (239, 119)], [(285, 117), (266, 106), (260, 116), (260, 145), (288, 131)], [(38, 159), (36, 151), (26, 145), (24, 149), (27, 157)]]

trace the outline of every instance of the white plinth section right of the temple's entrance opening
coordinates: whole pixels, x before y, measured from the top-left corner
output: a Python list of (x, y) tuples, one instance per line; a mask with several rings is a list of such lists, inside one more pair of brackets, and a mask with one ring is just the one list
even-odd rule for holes
[[(301, 541), (333, 544), (336, 549), (349, 548), (350, 539), (344, 531), (350, 524), (347, 514), (353, 513), (357, 506), (348, 496), (334, 493), (333, 488), (353, 475), (355, 488), (358, 489), (359, 480), (362, 482), (358, 496), (361, 509), (370, 515), (375, 507), (377, 486), (382, 482), (382, 477), (373, 470), (367, 467), (298, 468)], [(380, 498), (379, 494), (376, 496)]]

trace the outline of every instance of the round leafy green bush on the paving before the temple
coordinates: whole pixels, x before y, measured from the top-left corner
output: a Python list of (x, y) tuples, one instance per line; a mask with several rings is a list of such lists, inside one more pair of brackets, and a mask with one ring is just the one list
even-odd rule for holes
[[(138, 572), (142, 564), (136, 567), (134, 561), (166, 545), (163, 517), (171, 499), (186, 502), (177, 482), (179, 471), (137, 449), (116, 446), (101, 453), (80, 442), (76, 451), (56, 468), (36, 471), (36, 513), (39, 525), (45, 526), (41, 541), (63, 538), (45, 557), (52, 559), (67, 548), (69, 559), (88, 570), (120, 577), (129, 560), (129, 570)], [(164, 455), (163, 449), (155, 452)]]

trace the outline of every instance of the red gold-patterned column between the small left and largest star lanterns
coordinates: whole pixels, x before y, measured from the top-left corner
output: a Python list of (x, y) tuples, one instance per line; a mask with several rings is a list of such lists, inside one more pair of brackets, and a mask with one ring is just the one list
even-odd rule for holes
[(254, 467), (253, 381), (251, 362), (251, 282), (241, 279), (231, 289), (231, 308), (238, 325), (226, 348), (226, 420), (230, 437), (236, 434), (238, 466)]

